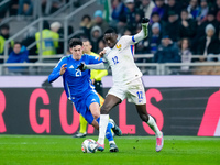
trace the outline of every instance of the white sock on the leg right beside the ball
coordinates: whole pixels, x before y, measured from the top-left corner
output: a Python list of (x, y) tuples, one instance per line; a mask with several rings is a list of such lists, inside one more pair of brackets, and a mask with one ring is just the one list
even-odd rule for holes
[(109, 123), (109, 114), (100, 114), (98, 143), (101, 144), (101, 145), (105, 144), (105, 138), (106, 138), (108, 123)]

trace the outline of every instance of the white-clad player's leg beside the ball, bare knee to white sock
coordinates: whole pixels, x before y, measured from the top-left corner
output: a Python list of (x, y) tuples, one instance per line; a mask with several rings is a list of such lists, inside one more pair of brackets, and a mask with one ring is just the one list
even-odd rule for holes
[(107, 125), (109, 122), (109, 111), (119, 105), (121, 102), (121, 99), (113, 96), (113, 95), (108, 95), (103, 106), (101, 107), (101, 114), (100, 114), (100, 123), (99, 123), (99, 139), (98, 139), (98, 144), (100, 146), (105, 146), (105, 135), (106, 135), (106, 130)]

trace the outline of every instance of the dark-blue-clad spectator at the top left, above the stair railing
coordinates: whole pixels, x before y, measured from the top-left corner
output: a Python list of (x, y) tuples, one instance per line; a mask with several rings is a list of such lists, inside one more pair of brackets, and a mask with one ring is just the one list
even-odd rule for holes
[(19, 0), (19, 11), (18, 15), (31, 15), (33, 12), (33, 1), (32, 0)]

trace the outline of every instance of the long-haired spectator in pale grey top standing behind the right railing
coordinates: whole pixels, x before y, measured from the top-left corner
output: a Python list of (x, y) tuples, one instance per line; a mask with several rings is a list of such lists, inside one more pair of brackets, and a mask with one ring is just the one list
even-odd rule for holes
[[(190, 41), (185, 37), (179, 42), (179, 51), (182, 56), (182, 63), (189, 64), (191, 63), (191, 51), (190, 51)], [(182, 66), (182, 74), (189, 74), (189, 66)]]

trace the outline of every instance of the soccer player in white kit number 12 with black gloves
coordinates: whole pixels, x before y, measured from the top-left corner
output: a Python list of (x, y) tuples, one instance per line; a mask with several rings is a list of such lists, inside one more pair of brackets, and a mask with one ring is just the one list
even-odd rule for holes
[(124, 35), (118, 41), (113, 29), (105, 32), (103, 38), (109, 47), (100, 52), (106, 62), (86, 65), (81, 64), (79, 69), (112, 69), (113, 86), (109, 90), (103, 106), (101, 107), (98, 150), (105, 150), (105, 132), (109, 121), (109, 111), (121, 103), (125, 98), (135, 103), (140, 118), (146, 122), (156, 134), (156, 151), (160, 152), (164, 145), (163, 132), (158, 130), (155, 120), (146, 112), (146, 98), (142, 82), (142, 73), (134, 63), (134, 44), (147, 36), (148, 19), (142, 19), (142, 31), (133, 36)]

